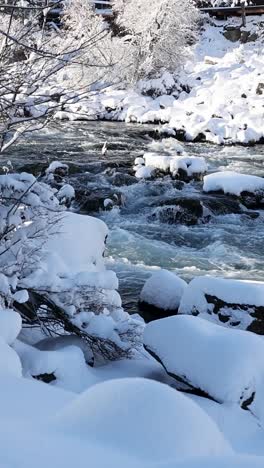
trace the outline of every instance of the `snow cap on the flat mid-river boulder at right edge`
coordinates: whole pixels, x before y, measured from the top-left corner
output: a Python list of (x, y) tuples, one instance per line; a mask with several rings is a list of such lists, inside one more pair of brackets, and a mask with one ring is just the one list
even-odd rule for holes
[(221, 190), (224, 193), (239, 196), (242, 192), (255, 193), (258, 190), (264, 190), (264, 179), (233, 171), (216, 172), (205, 176), (203, 190), (204, 192)]

